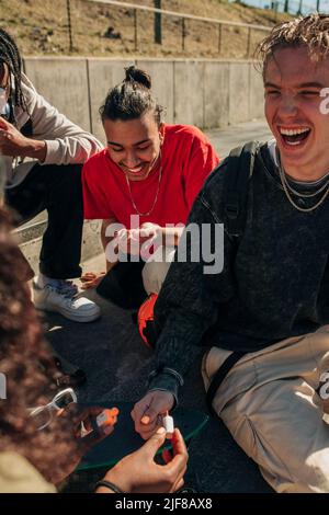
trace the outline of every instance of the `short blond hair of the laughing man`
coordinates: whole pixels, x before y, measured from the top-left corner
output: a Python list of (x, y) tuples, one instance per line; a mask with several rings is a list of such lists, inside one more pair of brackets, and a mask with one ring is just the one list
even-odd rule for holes
[(276, 50), (305, 46), (315, 61), (329, 55), (329, 14), (310, 14), (275, 25), (257, 47), (256, 57), (264, 77), (268, 62)]

